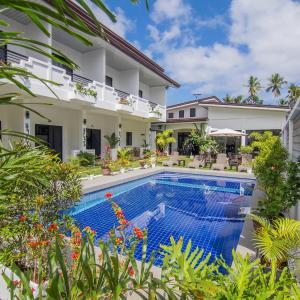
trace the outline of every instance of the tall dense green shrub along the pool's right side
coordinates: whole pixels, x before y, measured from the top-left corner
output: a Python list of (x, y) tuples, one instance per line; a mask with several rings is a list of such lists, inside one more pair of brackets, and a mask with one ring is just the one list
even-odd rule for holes
[(260, 214), (274, 218), (297, 203), (300, 195), (300, 161), (289, 162), (280, 137), (271, 132), (251, 134), (250, 147), (259, 150), (254, 160), (254, 174), (266, 197), (259, 203)]

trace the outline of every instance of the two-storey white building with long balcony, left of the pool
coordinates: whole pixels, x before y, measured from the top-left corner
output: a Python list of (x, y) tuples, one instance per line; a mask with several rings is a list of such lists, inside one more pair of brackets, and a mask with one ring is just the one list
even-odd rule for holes
[[(69, 5), (88, 20), (75, 3), (69, 1)], [(49, 120), (22, 108), (1, 106), (2, 129), (42, 138), (67, 160), (86, 149), (103, 155), (107, 144), (104, 136), (113, 132), (120, 137), (120, 146), (140, 147), (144, 140), (150, 140), (151, 122), (166, 120), (166, 88), (179, 87), (179, 84), (108, 28), (104, 27), (104, 32), (109, 42), (100, 37), (88, 37), (94, 44), (88, 47), (51, 25), (52, 37), (48, 38), (25, 15), (16, 11), (2, 11), (1, 19), (11, 24), (9, 30), (24, 32), (25, 37), (52, 45), (80, 66), (80, 70), (73, 72), (30, 50), (13, 45), (2, 47), (0, 60), (61, 84), (51, 86), (56, 98), (41, 82), (24, 78), (24, 83), (37, 97), (25, 95), (22, 101), (53, 104), (32, 106)], [(93, 22), (88, 24), (93, 29)], [(17, 88), (13, 84), (5, 88), (5, 92), (14, 91)]]

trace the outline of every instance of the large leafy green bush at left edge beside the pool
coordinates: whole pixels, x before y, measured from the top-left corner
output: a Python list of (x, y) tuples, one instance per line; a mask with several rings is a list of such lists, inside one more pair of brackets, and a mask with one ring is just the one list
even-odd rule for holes
[[(17, 144), (0, 150), (0, 261), (26, 266), (27, 242), (36, 224), (62, 221), (59, 213), (81, 196), (72, 166), (45, 147)], [(45, 237), (47, 239), (47, 237)]]

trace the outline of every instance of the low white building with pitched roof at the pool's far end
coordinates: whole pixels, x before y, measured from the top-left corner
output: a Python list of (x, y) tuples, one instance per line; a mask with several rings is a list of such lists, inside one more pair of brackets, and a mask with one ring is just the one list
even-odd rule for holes
[[(172, 150), (184, 153), (184, 141), (195, 128), (205, 124), (207, 131), (230, 128), (251, 134), (253, 131), (271, 130), (279, 134), (286, 120), (288, 107), (224, 103), (215, 96), (183, 102), (167, 107), (167, 121), (155, 122), (152, 130), (173, 129), (177, 143)], [(227, 138), (227, 151), (236, 152), (249, 138)], [(224, 143), (224, 138), (219, 138)]]

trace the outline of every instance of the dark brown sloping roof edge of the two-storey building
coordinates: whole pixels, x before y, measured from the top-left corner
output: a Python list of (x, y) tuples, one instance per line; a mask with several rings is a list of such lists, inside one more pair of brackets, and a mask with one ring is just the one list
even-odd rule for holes
[[(53, 0), (44, 0), (44, 1), (51, 4)], [(94, 24), (94, 21), (86, 14), (86, 12), (80, 6), (78, 6), (76, 3), (74, 3), (71, 0), (65, 0), (65, 1), (69, 5), (70, 9), (72, 9), (72, 11), (76, 13), (88, 25), (88, 27), (92, 31), (98, 33), (98, 29), (97, 26)], [(145, 67), (147, 67), (148, 69), (150, 69), (151, 71), (153, 71), (154, 73), (162, 77), (163, 79), (167, 80), (175, 87), (180, 87), (180, 84), (178, 82), (176, 82), (175, 80), (173, 80), (172, 78), (170, 78), (164, 73), (165, 70), (160, 65), (158, 65), (156, 62), (154, 62), (144, 53), (139, 51), (136, 47), (131, 45), (125, 39), (120, 37), (118, 34), (116, 34), (108, 27), (103, 25), (101, 22), (99, 23), (101, 24), (101, 27), (103, 28), (103, 32), (111, 45), (115, 46), (122, 52), (126, 53), (128, 56), (130, 56), (137, 62), (141, 63), (142, 65), (144, 65)]]

